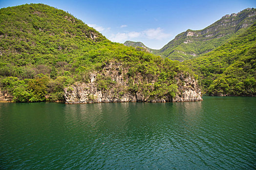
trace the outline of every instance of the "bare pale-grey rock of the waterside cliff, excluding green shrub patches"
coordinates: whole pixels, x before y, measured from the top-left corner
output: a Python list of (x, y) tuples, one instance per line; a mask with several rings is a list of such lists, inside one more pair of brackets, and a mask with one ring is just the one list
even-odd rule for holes
[[(202, 101), (201, 90), (198, 88), (197, 81), (191, 77), (185, 78), (184, 75), (176, 77), (178, 84), (178, 94), (175, 98), (170, 95), (161, 98), (149, 98), (142, 92), (131, 91), (128, 89), (128, 69), (120, 63), (110, 63), (100, 72), (93, 72), (89, 75), (88, 83), (76, 83), (64, 88), (64, 99), (66, 103), (97, 103), (97, 102), (194, 102)], [(97, 75), (110, 77), (116, 82), (108, 89), (99, 89)], [(157, 77), (156, 77), (157, 78)], [(147, 78), (148, 83), (154, 84), (156, 78)], [(136, 75), (134, 84), (140, 85), (142, 75)]]

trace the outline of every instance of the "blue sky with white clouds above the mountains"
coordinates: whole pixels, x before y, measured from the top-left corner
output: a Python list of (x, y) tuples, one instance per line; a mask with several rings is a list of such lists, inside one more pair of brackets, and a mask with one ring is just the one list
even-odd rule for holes
[(0, 8), (43, 3), (81, 19), (113, 42), (141, 41), (161, 49), (177, 34), (201, 30), (256, 0), (0, 0)]

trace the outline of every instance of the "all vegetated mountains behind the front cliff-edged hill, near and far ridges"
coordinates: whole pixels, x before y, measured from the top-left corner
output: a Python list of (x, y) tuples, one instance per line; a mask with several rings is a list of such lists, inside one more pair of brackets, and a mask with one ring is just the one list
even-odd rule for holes
[[(222, 17), (203, 30), (188, 30), (153, 53), (187, 60), (184, 64), (198, 75), (205, 93), (255, 96), (255, 14), (256, 9), (248, 8)], [(129, 42), (127, 45), (140, 44)]]

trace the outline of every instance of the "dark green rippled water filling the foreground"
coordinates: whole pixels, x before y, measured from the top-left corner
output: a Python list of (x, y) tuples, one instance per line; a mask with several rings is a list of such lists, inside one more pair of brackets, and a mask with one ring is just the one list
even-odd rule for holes
[(0, 169), (256, 169), (256, 98), (0, 103)]

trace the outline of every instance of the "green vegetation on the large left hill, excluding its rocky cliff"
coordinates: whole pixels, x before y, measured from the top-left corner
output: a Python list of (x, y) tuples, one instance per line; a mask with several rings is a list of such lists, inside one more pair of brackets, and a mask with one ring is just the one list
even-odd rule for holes
[[(72, 15), (44, 4), (0, 9), (0, 87), (16, 102), (63, 101), (64, 87), (87, 82), (88, 73), (122, 62), (129, 77), (158, 77), (150, 96), (175, 95), (174, 76), (189, 72), (177, 61), (112, 43)], [(111, 80), (98, 77), (98, 87)], [(129, 90), (139, 90), (130, 85)], [(146, 91), (145, 91), (146, 92)]]

